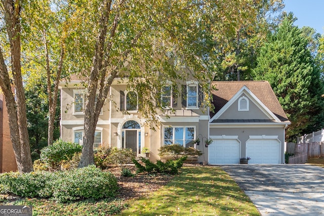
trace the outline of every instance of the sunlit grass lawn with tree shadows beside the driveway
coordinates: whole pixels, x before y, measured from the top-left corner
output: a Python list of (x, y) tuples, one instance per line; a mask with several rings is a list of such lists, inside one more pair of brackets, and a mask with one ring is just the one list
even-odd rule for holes
[(119, 215), (260, 215), (250, 198), (218, 167), (183, 167), (151, 196)]

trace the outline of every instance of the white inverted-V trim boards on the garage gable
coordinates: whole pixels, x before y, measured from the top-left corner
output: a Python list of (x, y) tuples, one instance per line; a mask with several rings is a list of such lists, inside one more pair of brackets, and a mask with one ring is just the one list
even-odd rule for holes
[(248, 87), (243, 86), (236, 94), (220, 109), (214, 116), (211, 118), (210, 122), (212, 122), (215, 119), (218, 119), (240, 96), (242, 93), (245, 93), (246, 96), (255, 102), (257, 107), (269, 118), (273, 118), (276, 122), (281, 122), (278, 117), (276, 117), (266, 105), (264, 105), (261, 100), (255, 94), (252, 93)]

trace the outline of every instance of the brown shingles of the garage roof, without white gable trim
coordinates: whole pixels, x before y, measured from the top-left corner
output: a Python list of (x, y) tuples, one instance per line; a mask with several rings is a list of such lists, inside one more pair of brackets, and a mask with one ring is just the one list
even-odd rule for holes
[(211, 118), (244, 86), (246, 86), (281, 122), (289, 122), (268, 81), (216, 81), (213, 90), (214, 113)]

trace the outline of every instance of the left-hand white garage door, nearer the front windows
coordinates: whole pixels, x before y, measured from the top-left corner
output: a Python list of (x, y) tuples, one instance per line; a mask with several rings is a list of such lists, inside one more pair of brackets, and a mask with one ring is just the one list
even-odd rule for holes
[(209, 164), (239, 163), (240, 143), (237, 139), (214, 139), (208, 147)]

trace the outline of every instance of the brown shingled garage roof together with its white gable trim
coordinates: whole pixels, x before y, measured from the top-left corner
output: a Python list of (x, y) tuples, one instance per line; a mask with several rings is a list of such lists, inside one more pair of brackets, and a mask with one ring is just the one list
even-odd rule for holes
[(242, 94), (248, 96), (259, 109), (275, 122), (289, 122), (284, 110), (267, 81), (225, 81), (213, 82), (217, 91), (213, 91), (215, 113), (211, 120), (219, 118)]

